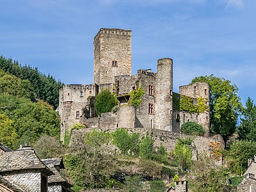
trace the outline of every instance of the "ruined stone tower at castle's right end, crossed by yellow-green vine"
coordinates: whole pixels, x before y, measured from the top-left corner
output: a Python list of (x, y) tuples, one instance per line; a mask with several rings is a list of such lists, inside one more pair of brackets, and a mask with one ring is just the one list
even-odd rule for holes
[[(207, 82), (196, 82), (193, 84), (180, 86), (180, 95), (185, 95), (192, 98), (204, 98), (205, 105), (210, 108), (209, 103), (209, 84)], [(196, 104), (196, 99), (194, 99), (194, 104)], [(205, 113), (189, 113), (188, 111), (180, 111), (180, 127), (185, 122), (196, 122), (203, 126), (206, 132), (210, 132), (210, 113), (205, 111)]]

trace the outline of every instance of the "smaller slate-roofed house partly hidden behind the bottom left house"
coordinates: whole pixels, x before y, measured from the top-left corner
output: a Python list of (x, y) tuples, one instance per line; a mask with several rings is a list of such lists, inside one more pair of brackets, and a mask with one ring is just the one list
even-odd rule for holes
[(60, 174), (60, 169), (65, 168), (62, 158), (42, 159), (42, 162), (54, 173), (48, 177), (48, 192), (73, 191), (72, 185)]

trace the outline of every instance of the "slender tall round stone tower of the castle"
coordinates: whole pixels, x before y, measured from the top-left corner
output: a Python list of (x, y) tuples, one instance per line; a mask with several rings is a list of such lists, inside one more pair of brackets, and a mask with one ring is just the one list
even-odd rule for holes
[(164, 58), (157, 61), (155, 74), (155, 129), (172, 131), (171, 113), (173, 100), (173, 60)]

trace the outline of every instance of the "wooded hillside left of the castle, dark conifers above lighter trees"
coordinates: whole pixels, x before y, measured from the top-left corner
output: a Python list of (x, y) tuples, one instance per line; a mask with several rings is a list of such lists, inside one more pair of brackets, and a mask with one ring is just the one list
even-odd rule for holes
[(59, 137), (58, 106), (61, 83), (36, 68), (0, 56), (0, 140), (18, 148), (47, 134)]

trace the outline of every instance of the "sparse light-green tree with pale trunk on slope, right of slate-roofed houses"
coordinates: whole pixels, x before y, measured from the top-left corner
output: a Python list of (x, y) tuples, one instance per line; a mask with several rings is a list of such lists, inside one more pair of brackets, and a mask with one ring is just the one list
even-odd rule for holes
[[(79, 134), (71, 143), (73, 166), (69, 173), (76, 186), (104, 188), (115, 172), (114, 152), (110, 151), (111, 134), (93, 130)], [(68, 166), (70, 167), (70, 166)]]

